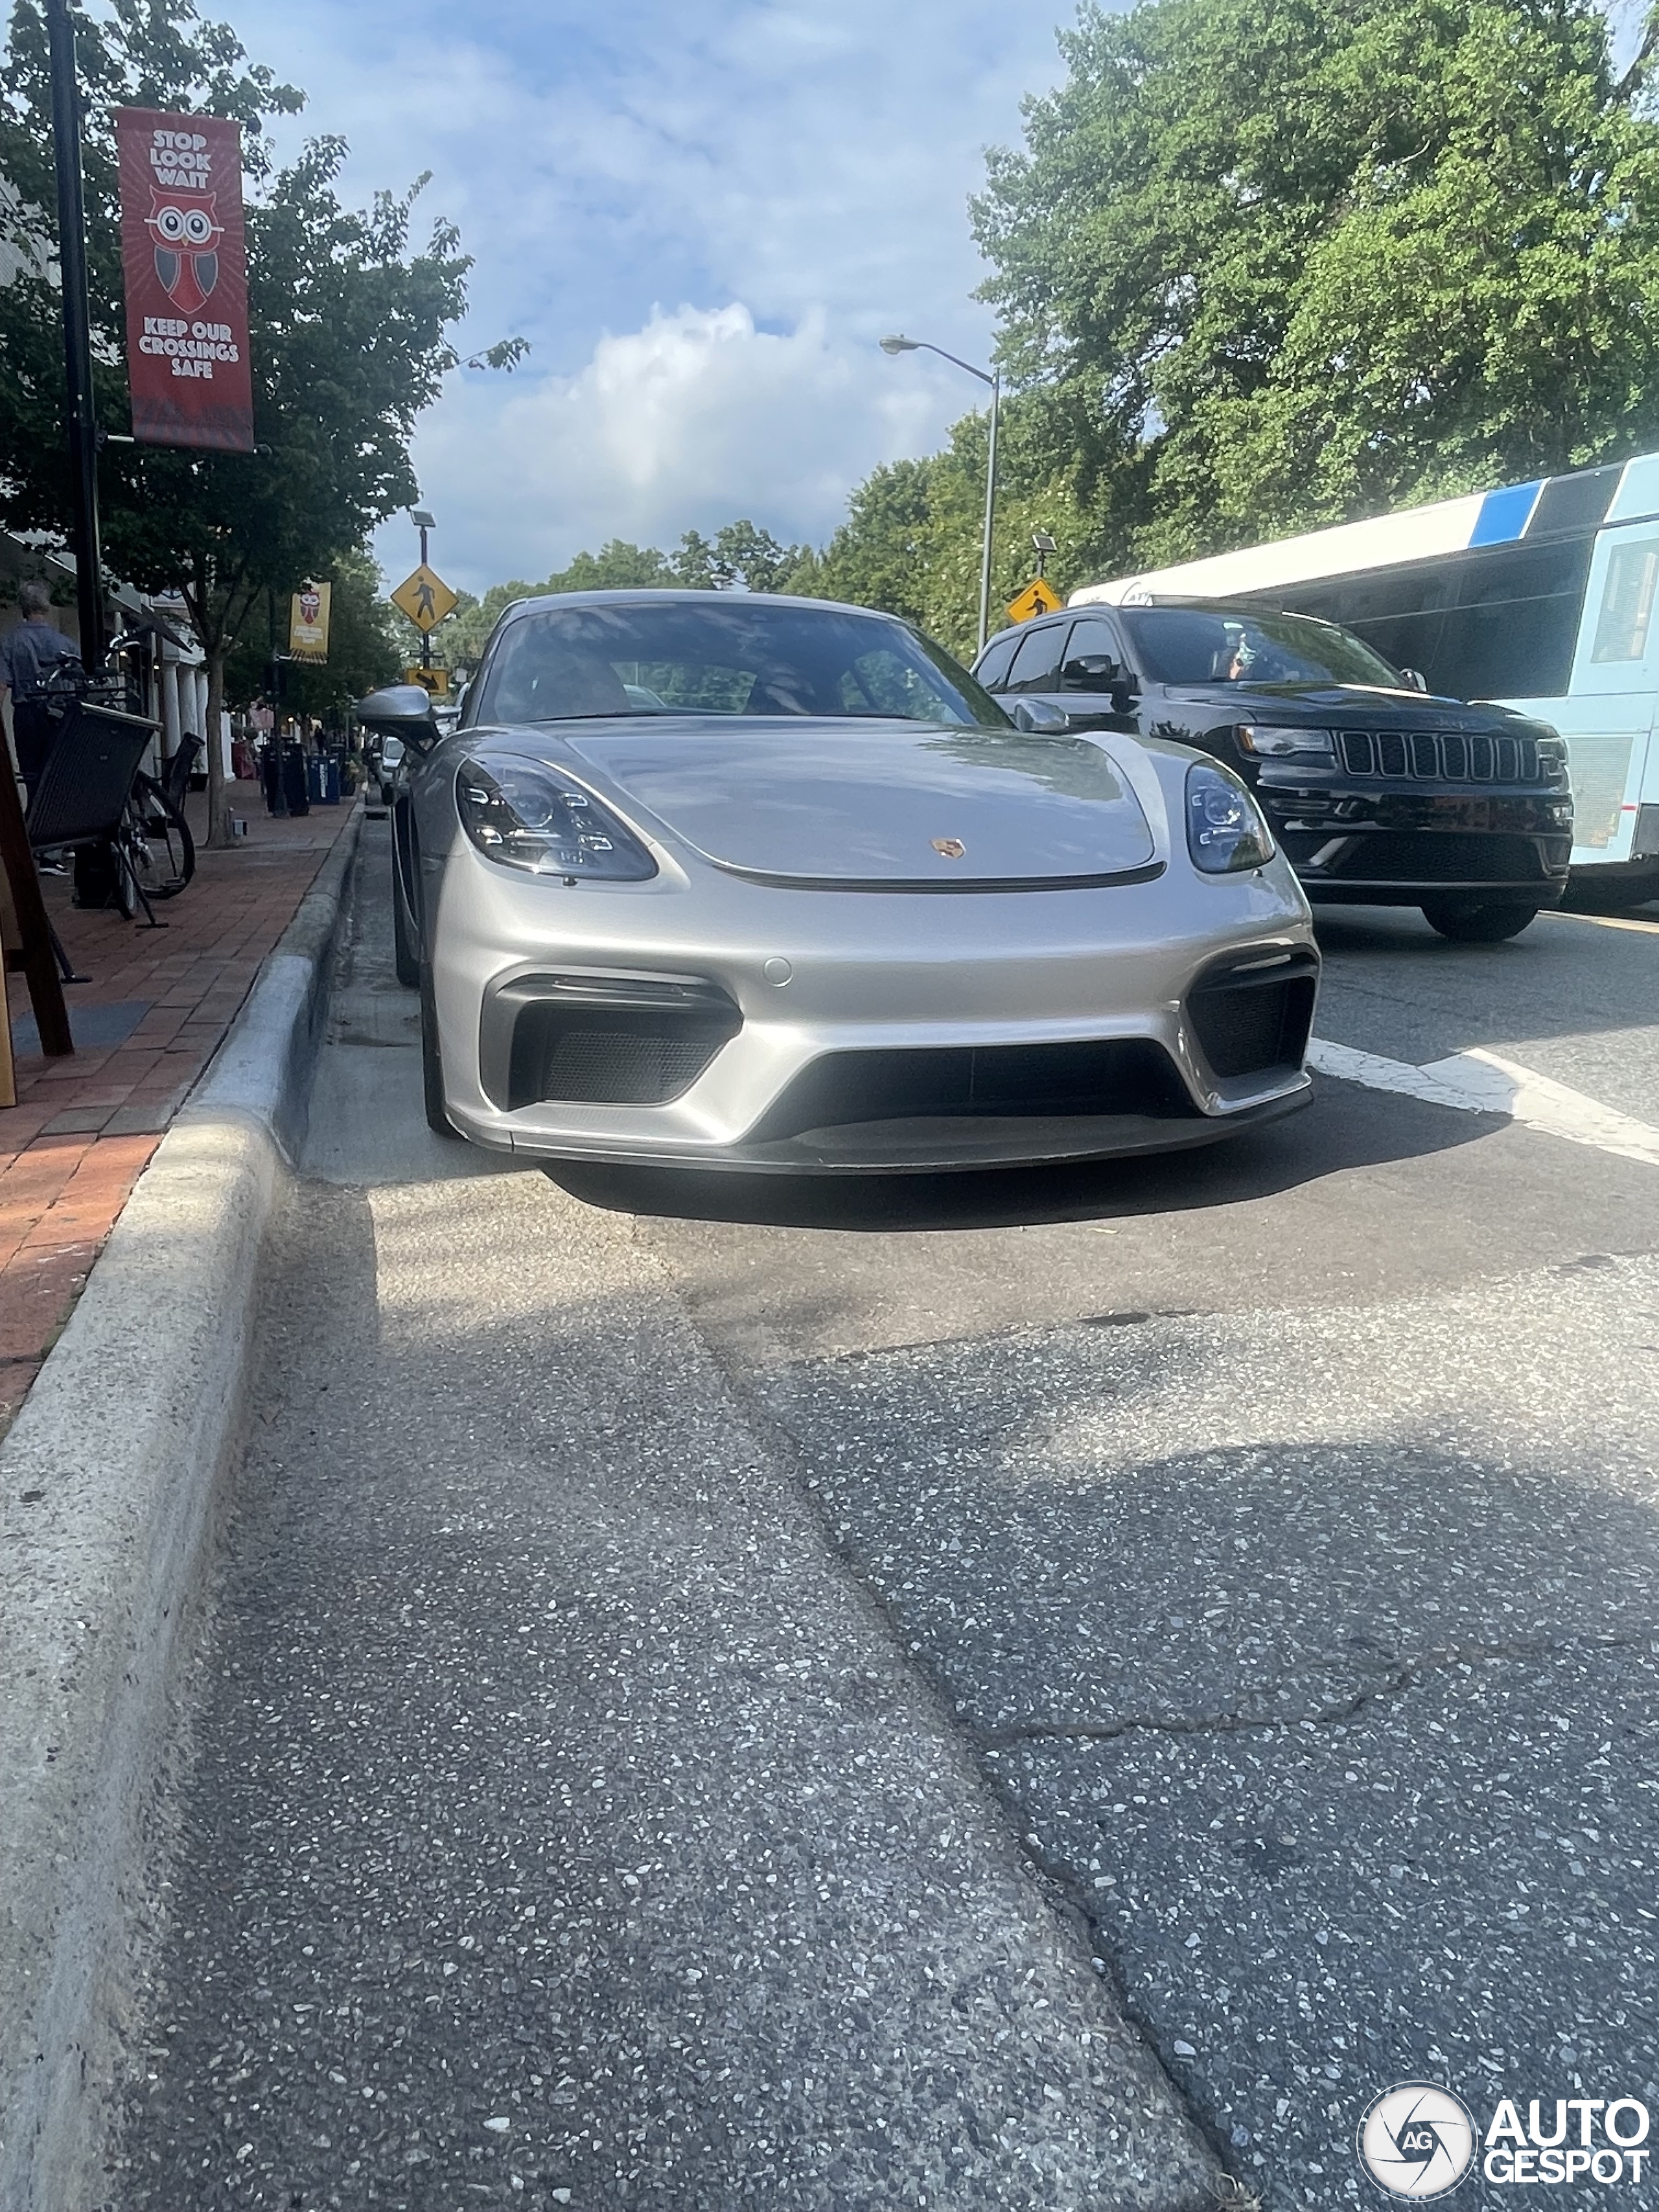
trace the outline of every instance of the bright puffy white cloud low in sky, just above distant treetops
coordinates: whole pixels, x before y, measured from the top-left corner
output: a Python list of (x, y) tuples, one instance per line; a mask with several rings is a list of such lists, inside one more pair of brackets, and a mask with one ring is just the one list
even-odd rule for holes
[[(834, 343), (823, 312), (779, 334), (743, 305), (679, 307), (602, 336), (575, 376), (518, 392), (469, 378), (416, 460), (442, 571), (478, 591), (533, 582), (606, 538), (672, 546), (739, 515), (825, 538), (847, 484), (925, 445), (936, 416), (931, 380)], [(405, 560), (407, 526), (387, 524), (380, 551)]]

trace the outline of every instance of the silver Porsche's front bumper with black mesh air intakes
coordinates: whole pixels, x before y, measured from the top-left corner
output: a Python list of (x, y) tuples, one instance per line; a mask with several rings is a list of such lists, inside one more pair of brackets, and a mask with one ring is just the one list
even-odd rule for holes
[[(434, 898), (434, 894), (438, 894)], [(1307, 1104), (1287, 865), (1082, 891), (429, 885), (445, 1102), (538, 1159), (779, 1172), (1175, 1150)]]

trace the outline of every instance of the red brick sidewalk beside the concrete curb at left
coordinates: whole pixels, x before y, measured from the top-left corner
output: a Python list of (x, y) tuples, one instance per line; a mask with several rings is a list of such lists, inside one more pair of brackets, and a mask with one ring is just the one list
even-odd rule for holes
[[(252, 783), (232, 785), (232, 807), (248, 816), (248, 843), (197, 854), (190, 889), (155, 909), (166, 929), (82, 914), (69, 883), (46, 878), (46, 911), (91, 978), (64, 987), (73, 1057), (42, 1057), (29, 987), (7, 978), (18, 1104), (0, 1108), (0, 1433), (144, 1164), (352, 816), (345, 801), (272, 821)], [(197, 836), (199, 812), (192, 801)]]

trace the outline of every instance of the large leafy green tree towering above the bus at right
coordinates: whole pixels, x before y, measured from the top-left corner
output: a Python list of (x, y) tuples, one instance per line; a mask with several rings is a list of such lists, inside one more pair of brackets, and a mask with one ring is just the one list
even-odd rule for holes
[(1062, 38), (975, 230), (1128, 564), (1659, 442), (1648, 31), (1590, 0), (1146, 0)]

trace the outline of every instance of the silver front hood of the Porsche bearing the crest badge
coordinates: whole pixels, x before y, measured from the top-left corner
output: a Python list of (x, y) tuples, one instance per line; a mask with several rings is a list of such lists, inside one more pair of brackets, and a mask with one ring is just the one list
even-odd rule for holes
[(714, 867), (763, 883), (982, 891), (1161, 867), (1139, 799), (1084, 737), (690, 714), (491, 737), (591, 770)]

